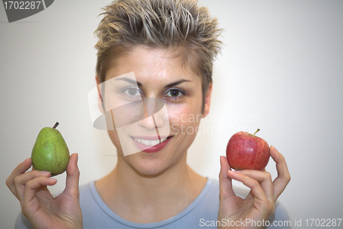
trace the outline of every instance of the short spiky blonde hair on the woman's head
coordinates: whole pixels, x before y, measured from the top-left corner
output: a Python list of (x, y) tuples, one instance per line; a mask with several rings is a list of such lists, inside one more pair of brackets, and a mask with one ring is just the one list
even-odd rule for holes
[(134, 45), (172, 48), (179, 51), (184, 65), (202, 76), (204, 103), (221, 45), (221, 30), (209, 10), (192, 0), (117, 0), (104, 10), (104, 19), (95, 30), (100, 82), (104, 82), (109, 64)]

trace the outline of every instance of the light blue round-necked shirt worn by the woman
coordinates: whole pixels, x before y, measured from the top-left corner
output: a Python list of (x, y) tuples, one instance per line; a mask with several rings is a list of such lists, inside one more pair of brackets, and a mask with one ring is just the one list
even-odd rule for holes
[[(219, 182), (208, 179), (200, 195), (178, 215), (156, 223), (134, 223), (119, 217), (110, 210), (97, 193), (94, 182), (91, 182), (80, 186), (84, 228), (217, 228), (218, 223), (223, 223), (217, 221), (219, 190)], [(244, 196), (243, 193), (237, 193), (237, 195)], [(280, 228), (274, 227), (274, 221), (275, 225), (278, 225), (279, 221), (289, 221), (287, 211), (279, 201), (276, 202), (275, 211), (268, 220), (267, 225), (270, 225), (268, 228)], [(224, 221), (224, 223), (230, 222)], [(15, 228), (32, 228), (32, 224), (23, 214), (20, 214)], [(283, 228), (290, 228), (290, 225)]]

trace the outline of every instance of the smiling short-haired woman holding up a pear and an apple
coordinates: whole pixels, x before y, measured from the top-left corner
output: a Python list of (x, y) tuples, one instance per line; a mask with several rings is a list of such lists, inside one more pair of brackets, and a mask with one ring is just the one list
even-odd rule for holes
[[(16, 227), (261, 228), (268, 218), (270, 227), (273, 220), (287, 219), (275, 203), (290, 177), (273, 146), (274, 182), (265, 171), (231, 171), (225, 157), (219, 184), (187, 165), (196, 131), (185, 130), (196, 130), (197, 117), (209, 113), (213, 59), (220, 50), (217, 21), (188, 0), (118, 0), (105, 10), (96, 31), (96, 81), (103, 100), (99, 107), (108, 111), (108, 127), (115, 127), (108, 135), (117, 148), (117, 164), (106, 177), (79, 188), (78, 155), (71, 155), (66, 188), (53, 198), (47, 186), (56, 179), (44, 171), (25, 172), (32, 165), (28, 158), (6, 181), (21, 202)], [(107, 82), (117, 89), (104, 87)], [(106, 91), (115, 99), (108, 102)], [(151, 113), (147, 98), (163, 101), (167, 114)], [(137, 119), (141, 111), (127, 107), (140, 101), (145, 117)], [(125, 116), (120, 116), (115, 111), (123, 107)], [(121, 123), (130, 118), (137, 122)], [(127, 151), (129, 145), (139, 150)], [(251, 189), (245, 199), (233, 192), (232, 179)]]

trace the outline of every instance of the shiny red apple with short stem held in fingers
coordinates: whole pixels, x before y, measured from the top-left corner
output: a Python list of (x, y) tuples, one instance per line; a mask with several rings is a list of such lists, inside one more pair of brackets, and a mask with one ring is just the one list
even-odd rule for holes
[(263, 170), (269, 162), (269, 146), (262, 138), (248, 132), (235, 133), (226, 146), (226, 158), (231, 168), (235, 170)]

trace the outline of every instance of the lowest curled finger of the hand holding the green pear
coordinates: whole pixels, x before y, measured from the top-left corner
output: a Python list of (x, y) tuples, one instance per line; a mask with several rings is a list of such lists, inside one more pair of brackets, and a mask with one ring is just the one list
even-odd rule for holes
[[(26, 214), (30, 212), (35, 212), (35, 210), (29, 209), (32, 207), (38, 209), (40, 207), (38, 202), (33, 201), (36, 197), (37, 188), (40, 188), (42, 186), (51, 186), (56, 184), (56, 182), (57, 179), (46, 176), (39, 176), (34, 179), (30, 179), (28, 182), (26, 182), (22, 205), (24, 212), (26, 212)], [(34, 204), (36, 204), (36, 206), (34, 206)]]

